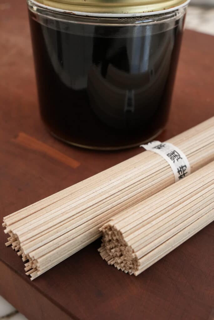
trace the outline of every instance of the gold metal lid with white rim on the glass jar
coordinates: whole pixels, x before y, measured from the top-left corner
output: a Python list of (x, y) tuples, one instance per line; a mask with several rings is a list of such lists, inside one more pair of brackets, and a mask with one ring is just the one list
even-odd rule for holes
[(53, 10), (95, 16), (135, 16), (168, 12), (190, 0), (31, 0)]

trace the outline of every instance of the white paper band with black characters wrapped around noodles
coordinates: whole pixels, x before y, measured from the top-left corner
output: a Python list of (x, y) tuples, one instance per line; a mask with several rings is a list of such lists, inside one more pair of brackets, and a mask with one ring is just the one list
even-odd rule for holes
[(171, 166), (175, 176), (175, 182), (183, 179), (191, 173), (190, 164), (185, 154), (176, 146), (168, 142), (152, 141), (140, 147), (153, 151), (162, 156)]

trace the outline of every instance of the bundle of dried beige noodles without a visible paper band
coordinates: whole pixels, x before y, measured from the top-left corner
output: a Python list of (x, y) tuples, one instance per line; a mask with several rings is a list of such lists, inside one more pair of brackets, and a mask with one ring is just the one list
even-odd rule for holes
[(136, 276), (214, 220), (214, 162), (105, 224), (103, 259)]

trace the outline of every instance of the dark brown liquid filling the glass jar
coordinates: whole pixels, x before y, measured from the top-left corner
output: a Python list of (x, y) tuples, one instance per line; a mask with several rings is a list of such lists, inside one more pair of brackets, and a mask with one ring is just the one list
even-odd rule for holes
[(50, 132), (76, 145), (113, 149), (138, 145), (162, 130), (183, 18), (153, 35), (129, 27), (133, 37), (119, 37), (106, 27), (107, 35), (88, 36), (87, 26), (86, 35), (72, 34), (60, 22), (47, 27), (29, 13), (40, 112)]

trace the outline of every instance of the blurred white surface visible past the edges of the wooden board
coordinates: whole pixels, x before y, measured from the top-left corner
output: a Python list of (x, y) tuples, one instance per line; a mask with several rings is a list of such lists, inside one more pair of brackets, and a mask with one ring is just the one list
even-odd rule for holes
[[(209, 1), (211, 3), (213, 0)], [(190, 6), (187, 13), (186, 28), (214, 35), (214, 7)], [(27, 319), (0, 296), (0, 320)]]

